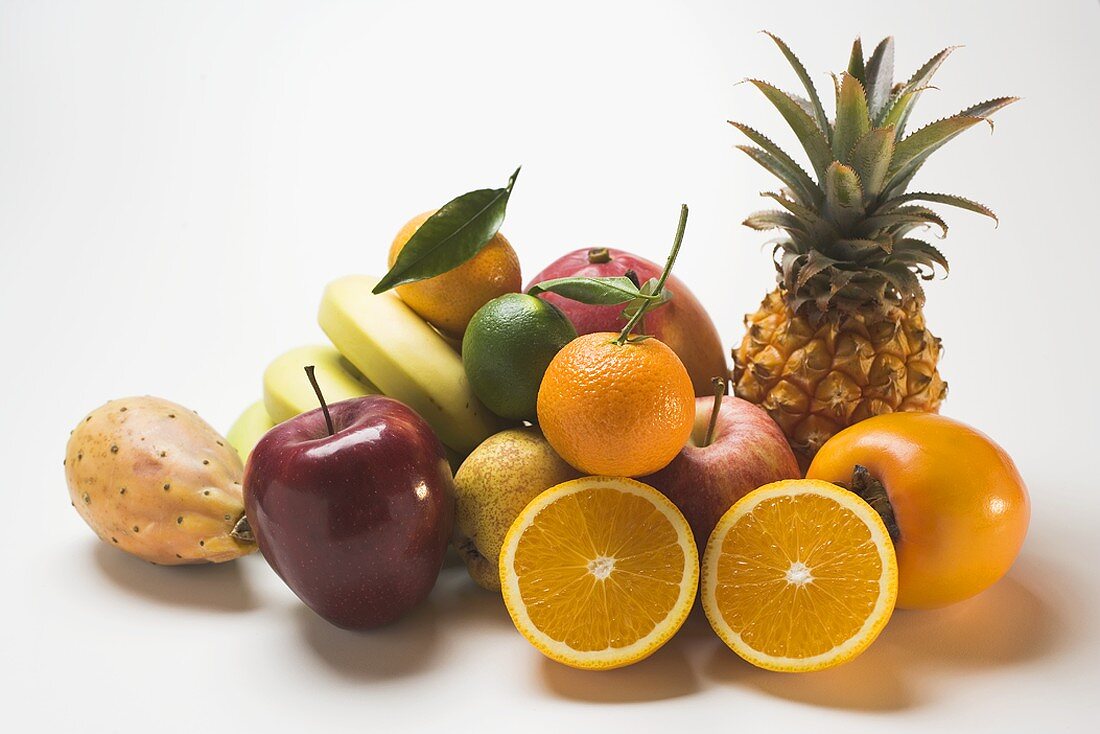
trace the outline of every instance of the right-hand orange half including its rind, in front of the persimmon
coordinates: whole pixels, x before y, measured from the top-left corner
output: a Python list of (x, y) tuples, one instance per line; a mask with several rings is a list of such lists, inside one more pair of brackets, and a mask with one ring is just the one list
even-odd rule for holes
[(898, 561), (882, 518), (820, 480), (766, 484), (718, 521), (706, 544), (703, 610), (729, 649), (788, 672), (840, 665), (893, 612)]

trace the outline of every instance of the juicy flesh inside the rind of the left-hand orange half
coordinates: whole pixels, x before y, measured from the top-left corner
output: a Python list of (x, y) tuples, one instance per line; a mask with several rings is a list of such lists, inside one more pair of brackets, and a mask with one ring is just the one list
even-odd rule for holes
[(681, 593), (676, 529), (646, 499), (602, 487), (539, 512), (514, 568), (531, 623), (574, 650), (627, 647), (664, 621)]

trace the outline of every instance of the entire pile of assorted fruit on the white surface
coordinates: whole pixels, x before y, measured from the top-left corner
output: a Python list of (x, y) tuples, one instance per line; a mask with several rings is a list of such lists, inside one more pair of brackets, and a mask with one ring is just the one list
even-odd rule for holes
[[(895, 606), (982, 591), (1028, 522), (1012, 460), (937, 415), (946, 383), (921, 281), (946, 233), (910, 190), (927, 157), (1014, 101), (916, 130), (950, 53), (892, 79), (893, 42), (857, 40), (826, 116), (752, 80), (813, 174), (756, 130), (744, 150), (783, 184), (777, 287), (727, 366), (718, 332), (672, 275), (628, 252), (578, 250), (521, 291), (501, 233), (504, 188), (410, 220), (389, 271), (324, 289), (331, 346), (290, 350), (223, 439), (153, 397), (112, 401), (73, 431), (74, 506), (105, 541), (154, 563), (258, 547), (310, 609), (384, 625), (431, 591), (453, 546), (516, 628), (579, 668), (636, 662), (696, 594), (715, 633), (772, 670), (818, 670), (873, 642)], [(732, 385), (734, 395), (727, 395)], [(453, 472), (453, 473), (452, 473)]]

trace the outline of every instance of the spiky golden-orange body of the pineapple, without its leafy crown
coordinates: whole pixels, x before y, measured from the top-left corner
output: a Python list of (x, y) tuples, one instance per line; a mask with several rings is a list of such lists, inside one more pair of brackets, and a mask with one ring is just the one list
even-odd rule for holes
[(880, 413), (936, 413), (947, 395), (941, 341), (909, 303), (889, 318), (850, 315), (813, 325), (780, 288), (745, 317), (734, 392), (763, 407), (810, 459), (834, 434)]

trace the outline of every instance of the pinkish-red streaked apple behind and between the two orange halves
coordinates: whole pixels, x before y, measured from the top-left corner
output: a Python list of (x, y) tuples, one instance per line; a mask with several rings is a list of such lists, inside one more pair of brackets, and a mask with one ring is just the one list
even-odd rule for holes
[(735, 502), (763, 484), (802, 476), (782, 429), (762, 408), (739, 397), (722, 398), (707, 443), (714, 406), (714, 397), (696, 398), (688, 445), (668, 467), (639, 479), (684, 514), (700, 555)]

